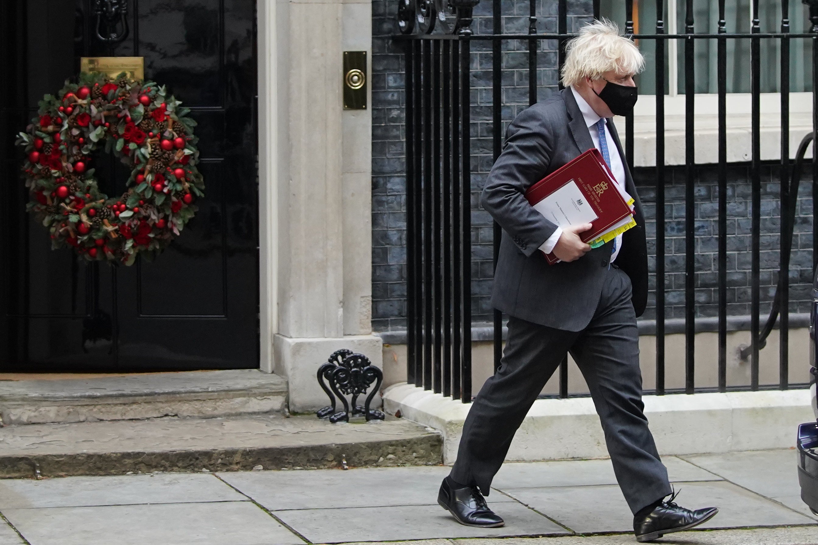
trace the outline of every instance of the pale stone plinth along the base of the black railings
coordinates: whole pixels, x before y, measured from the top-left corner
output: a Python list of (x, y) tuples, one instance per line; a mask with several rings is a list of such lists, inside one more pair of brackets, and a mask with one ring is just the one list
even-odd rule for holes
[[(645, 395), (645, 416), (659, 453), (787, 449), (798, 424), (815, 418), (808, 390)], [(443, 462), (456, 459), (470, 404), (402, 382), (384, 391), (384, 409), (438, 430)], [(591, 398), (537, 400), (506, 460), (533, 462), (608, 456)]]

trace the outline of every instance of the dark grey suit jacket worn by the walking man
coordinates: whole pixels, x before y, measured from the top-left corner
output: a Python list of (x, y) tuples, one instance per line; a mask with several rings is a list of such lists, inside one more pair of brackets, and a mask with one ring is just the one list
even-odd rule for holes
[[(616, 128), (611, 136), (625, 166), (626, 190), (636, 199), (636, 227), (622, 235), (616, 265), (631, 278), (636, 315), (648, 296), (645, 218)], [(492, 306), (508, 315), (566, 331), (587, 327), (599, 303), (611, 243), (577, 261), (548, 265), (539, 247), (556, 226), (525, 199), (528, 187), (594, 147), (591, 133), (569, 88), (521, 112), (506, 132), (502, 154), (492, 167), (481, 203), (502, 227)]]

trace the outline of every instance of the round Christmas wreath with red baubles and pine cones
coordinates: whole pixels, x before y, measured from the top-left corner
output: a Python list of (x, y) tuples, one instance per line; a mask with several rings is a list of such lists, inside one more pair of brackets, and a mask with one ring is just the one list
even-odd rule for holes
[[(39, 103), (16, 142), (27, 154), (26, 205), (51, 231), (52, 248), (133, 264), (155, 257), (196, 213), (205, 183), (188, 108), (164, 86), (119, 74), (80, 74)], [(105, 145), (131, 170), (124, 194), (102, 193), (89, 168)]]

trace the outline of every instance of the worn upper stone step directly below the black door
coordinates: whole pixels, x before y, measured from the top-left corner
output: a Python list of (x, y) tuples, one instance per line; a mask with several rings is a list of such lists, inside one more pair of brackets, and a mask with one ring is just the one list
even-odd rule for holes
[(258, 369), (0, 381), (2, 424), (281, 413), (287, 382)]

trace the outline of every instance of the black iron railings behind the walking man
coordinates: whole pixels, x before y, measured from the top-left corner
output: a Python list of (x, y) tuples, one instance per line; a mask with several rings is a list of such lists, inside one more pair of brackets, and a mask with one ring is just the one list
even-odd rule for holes
[[(471, 247), (471, 173), (475, 165), (472, 161), (471, 140), (474, 126), (470, 123), (472, 111), (472, 89), (470, 69), (474, 62), (472, 44), (489, 41), (492, 44), (492, 141), (493, 156), (501, 152), (502, 100), (501, 47), (504, 42), (524, 40), (528, 42), (528, 99), (529, 104), (537, 101), (537, 54), (538, 43), (556, 40), (558, 67), (564, 62), (564, 43), (573, 36), (567, 32), (568, 9), (566, 0), (556, 0), (558, 5), (556, 34), (537, 34), (535, 0), (530, 1), (529, 33), (501, 34), (501, 0), (493, 0), (493, 34), (473, 34), (471, 25), (472, 8), (479, 2), (473, 0), (449, 0), (448, 8), (454, 12), (456, 21), (446, 30), (456, 34), (411, 34), (417, 30), (414, 20), (421, 21), (423, 31), (432, 32), (435, 21), (446, 23), (452, 17), (441, 17), (437, 13), (442, 8), (440, 0), (404, 0), (399, 18), (400, 28), (406, 34), (395, 37), (405, 45), (406, 66), (406, 143), (407, 143), (407, 379), (408, 382), (423, 386), (443, 395), (451, 395), (464, 403), (472, 399), (471, 389), (471, 332), (472, 332), (472, 247)], [(789, 2), (780, 2), (780, 32), (762, 33), (759, 26), (759, 0), (752, 2), (752, 23), (749, 33), (728, 33), (725, 21), (725, 0), (719, 0), (719, 20), (716, 34), (696, 34), (693, 0), (685, 2), (684, 34), (667, 32), (663, 11), (665, 1), (657, 0), (655, 34), (633, 34), (633, 1), (625, 2), (627, 34), (638, 40), (655, 42), (655, 98), (656, 98), (656, 265), (655, 276), (665, 276), (665, 94), (667, 74), (664, 59), (668, 44), (681, 43), (683, 47), (683, 74), (685, 94), (685, 386), (686, 393), (694, 391), (734, 390), (727, 385), (727, 118), (726, 118), (726, 67), (727, 44), (730, 41), (750, 42), (750, 80), (752, 107), (752, 150), (750, 163), (750, 184), (752, 186), (752, 242), (750, 252), (752, 263), (750, 334), (751, 342), (743, 355), (751, 365), (750, 384), (744, 389), (759, 389), (759, 350), (766, 342), (776, 318), (780, 334), (780, 379), (777, 387), (787, 389), (789, 385), (789, 293), (788, 274), (789, 252), (793, 238), (795, 198), (798, 194), (798, 179), (811, 177), (812, 195), (818, 192), (818, 161), (813, 160), (811, 168), (802, 165), (802, 158), (808, 140), (815, 138), (818, 123), (818, 0), (803, 0), (809, 5), (811, 29), (807, 33), (793, 33), (789, 23)], [(437, 11), (436, 11), (437, 9)], [(418, 15), (420, 14), (420, 16)], [(600, 16), (600, 2), (594, 2), (594, 16)], [(645, 25), (645, 20), (642, 20)], [(694, 177), (697, 164), (694, 155), (694, 101), (695, 65), (694, 42), (698, 40), (717, 43), (717, 96), (718, 96), (718, 369), (715, 388), (697, 388), (694, 384), (696, 372), (694, 338), (696, 332), (695, 288), (695, 195)], [(798, 156), (789, 158), (789, 80), (790, 46), (794, 41), (811, 42), (812, 51), (812, 134), (802, 144)], [(760, 82), (762, 78), (762, 41), (780, 43), (780, 281), (777, 285), (775, 302), (770, 319), (760, 328), (760, 240), (761, 240), (761, 108)], [(767, 67), (768, 68), (768, 67)], [(627, 163), (634, 166), (634, 118), (628, 116), (625, 126)], [(814, 154), (815, 155), (815, 154)], [(813, 215), (815, 212), (813, 212)], [(818, 222), (812, 222), (813, 239), (818, 239)], [(494, 226), (494, 259), (500, 243), (501, 230)], [(818, 262), (818, 252), (813, 252), (813, 264)], [(662, 395), (667, 391), (665, 383), (665, 293), (663, 281), (655, 283), (655, 334), (656, 370), (654, 393)], [(495, 311), (494, 364), (495, 369), (501, 358), (502, 316)], [(741, 388), (739, 388), (741, 389)], [(569, 396), (568, 362), (560, 366), (560, 397)]]

